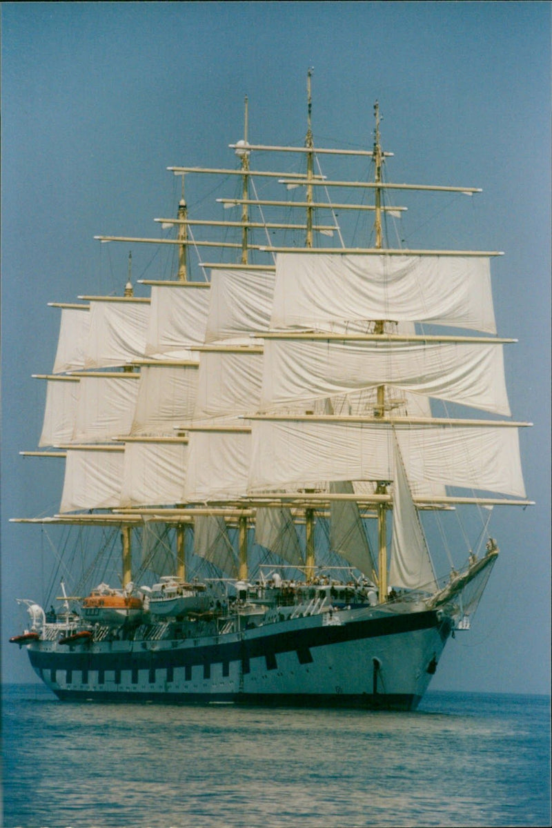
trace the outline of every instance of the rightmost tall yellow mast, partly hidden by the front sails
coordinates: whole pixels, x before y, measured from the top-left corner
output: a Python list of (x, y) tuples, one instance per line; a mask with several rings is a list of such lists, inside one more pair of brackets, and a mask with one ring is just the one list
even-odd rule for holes
[[(380, 184), (382, 181), (382, 142), (380, 138), (380, 107), (376, 101), (374, 104), (374, 118), (376, 119), (376, 128), (374, 130), (374, 182)], [(382, 249), (382, 188), (376, 187), (376, 214), (374, 219), (374, 229), (376, 231), (376, 248)], [(376, 320), (374, 328), (375, 334), (383, 334), (384, 320)], [(376, 416), (383, 417), (385, 415), (385, 385), (377, 386), (377, 407)], [(376, 493), (386, 494), (387, 485), (383, 480), (378, 481)], [(378, 574), (379, 574), (379, 599), (383, 603), (387, 599), (387, 509), (385, 503), (378, 503), (377, 505), (377, 540), (378, 540)]]

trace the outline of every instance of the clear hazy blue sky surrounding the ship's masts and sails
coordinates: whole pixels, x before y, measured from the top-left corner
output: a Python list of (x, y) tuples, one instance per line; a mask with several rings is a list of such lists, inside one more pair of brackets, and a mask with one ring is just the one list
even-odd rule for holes
[[(233, 164), (245, 94), (250, 140), (303, 142), (309, 66), (316, 143), (369, 147), (379, 99), (388, 180), (483, 189), (410, 208), (404, 235), (506, 254), (493, 292), (499, 333), (520, 340), (506, 379), (514, 416), (535, 423), (521, 446), (537, 505), (495, 509), (502, 554), (432, 688), (549, 691), (548, 2), (2, 4), (3, 681), (32, 679), (6, 642), (50, 554), (8, 519), (59, 508), (60, 469), (18, 456), (41, 431), (31, 373), (51, 370), (59, 325), (46, 303), (122, 291), (127, 247), (94, 234), (156, 235), (178, 198), (166, 166)], [(151, 249), (132, 252), (137, 277), (158, 276)]]

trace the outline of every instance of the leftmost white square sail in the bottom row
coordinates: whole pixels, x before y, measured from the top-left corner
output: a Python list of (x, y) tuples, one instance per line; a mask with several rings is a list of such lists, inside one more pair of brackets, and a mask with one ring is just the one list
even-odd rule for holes
[(68, 449), (60, 512), (117, 508), (123, 458), (122, 446)]

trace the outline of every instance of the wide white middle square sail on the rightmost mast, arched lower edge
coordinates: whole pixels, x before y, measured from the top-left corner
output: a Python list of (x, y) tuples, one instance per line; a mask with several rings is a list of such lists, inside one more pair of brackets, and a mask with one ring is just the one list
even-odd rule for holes
[(390, 385), (510, 415), (501, 344), (266, 339), (262, 412)]

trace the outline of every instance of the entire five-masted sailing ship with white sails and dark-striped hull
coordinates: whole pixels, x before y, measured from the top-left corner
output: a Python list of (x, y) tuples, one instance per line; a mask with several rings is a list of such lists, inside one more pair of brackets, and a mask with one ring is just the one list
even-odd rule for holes
[[(124, 296), (59, 305), (26, 454), (65, 459), (60, 513), (22, 522), (122, 538), (118, 579), (106, 544), (55, 608), (19, 599), (11, 640), (60, 699), (415, 709), (497, 560), (490, 509), (530, 503), (529, 424), (511, 421), (504, 377), (515, 340), (497, 338), (492, 306), (500, 254), (386, 241), (405, 190), (479, 190), (388, 183), (377, 104), (371, 150), (315, 147), (310, 74), (307, 112), (304, 146), (251, 144), (246, 99), (235, 167), (169, 168), (182, 198), (156, 221), (170, 237), (98, 237), (174, 245), (176, 278), (134, 296), (129, 258)], [(253, 166), (272, 156), (299, 171)], [(329, 156), (364, 176), (330, 180)], [(238, 181), (218, 201), (239, 218), (189, 218), (196, 176)], [(372, 246), (346, 246), (353, 212), (373, 219)], [(451, 550), (460, 509), (467, 542)], [(438, 523), (433, 556), (420, 513)]]

